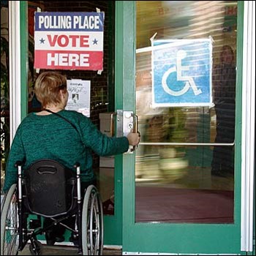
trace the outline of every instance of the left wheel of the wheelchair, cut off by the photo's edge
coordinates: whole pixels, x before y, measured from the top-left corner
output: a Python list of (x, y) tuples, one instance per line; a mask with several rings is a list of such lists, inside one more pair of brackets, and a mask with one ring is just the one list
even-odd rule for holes
[(18, 242), (18, 198), (13, 184), (1, 208), (1, 255), (17, 255)]

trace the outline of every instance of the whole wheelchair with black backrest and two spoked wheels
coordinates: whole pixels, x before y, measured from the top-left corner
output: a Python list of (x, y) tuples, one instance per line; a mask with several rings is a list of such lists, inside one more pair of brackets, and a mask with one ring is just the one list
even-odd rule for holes
[[(1, 203), (1, 255), (18, 255), (30, 241), (31, 255), (42, 254), (37, 235), (62, 225), (78, 240), (80, 255), (103, 253), (103, 209), (94, 185), (81, 192), (80, 165), (69, 170), (59, 162), (42, 159), (27, 170), (16, 162), (18, 184), (13, 184)], [(30, 219), (29, 215), (37, 217)], [(43, 226), (42, 219), (50, 225)], [(72, 219), (74, 225), (67, 225)]]

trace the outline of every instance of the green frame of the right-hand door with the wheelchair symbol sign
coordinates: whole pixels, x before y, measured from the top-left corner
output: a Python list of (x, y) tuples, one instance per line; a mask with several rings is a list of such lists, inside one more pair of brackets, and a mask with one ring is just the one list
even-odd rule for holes
[[(135, 1), (118, 1), (123, 26), (123, 110), (135, 110)], [(236, 179), (232, 225), (135, 223), (135, 156), (123, 157), (123, 253), (245, 254), (241, 252), (241, 81), (243, 49), (243, 1), (238, 1), (238, 61), (236, 91)], [(118, 31), (117, 31), (118, 33)], [(118, 45), (116, 45), (118, 47)], [(119, 59), (120, 56), (118, 56)], [(214, 243), (213, 243), (214, 241)], [(217, 246), (216, 246), (217, 245)]]

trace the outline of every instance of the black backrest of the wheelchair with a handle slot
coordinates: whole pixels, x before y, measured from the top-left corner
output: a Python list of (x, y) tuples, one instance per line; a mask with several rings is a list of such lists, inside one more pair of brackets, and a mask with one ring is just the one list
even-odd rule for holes
[(23, 176), (25, 205), (33, 214), (56, 217), (74, 208), (75, 171), (54, 160), (34, 162)]

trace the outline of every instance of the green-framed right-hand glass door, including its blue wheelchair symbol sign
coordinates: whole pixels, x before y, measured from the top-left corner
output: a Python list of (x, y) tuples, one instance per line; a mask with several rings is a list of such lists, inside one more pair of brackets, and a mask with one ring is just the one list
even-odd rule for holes
[(138, 115), (141, 134), (123, 159), (123, 253), (240, 254), (242, 6), (128, 1), (122, 8), (123, 108)]

